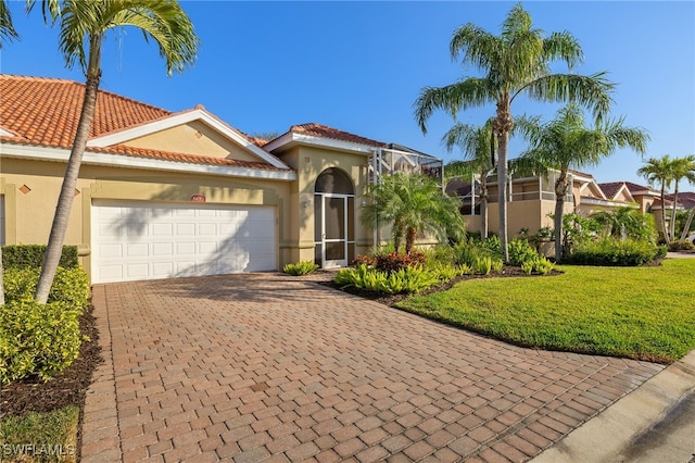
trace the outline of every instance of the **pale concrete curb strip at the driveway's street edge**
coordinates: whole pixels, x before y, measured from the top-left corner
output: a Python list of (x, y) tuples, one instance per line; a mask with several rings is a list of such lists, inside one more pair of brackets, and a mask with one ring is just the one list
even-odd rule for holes
[[(695, 350), (591, 418), (563, 440), (531, 460), (533, 463), (624, 462), (636, 461), (636, 442), (645, 441), (655, 428), (682, 415), (679, 409), (695, 398)], [(695, 453), (695, 418), (679, 416), (678, 426), (661, 426), (670, 431), (686, 427), (691, 436), (673, 445), (658, 431), (654, 446), (662, 462), (691, 461)], [(673, 429), (677, 428), (677, 429)], [(693, 429), (691, 431), (691, 428)], [(655, 436), (656, 437), (656, 436)], [(654, 450), (649, 446), (649, 450)], [(644, 446), (642, 446), (644, 447)], [(668, 453), (664, 454), (665, 452)], [(669, 456), (670, 455), (670, 456)]]

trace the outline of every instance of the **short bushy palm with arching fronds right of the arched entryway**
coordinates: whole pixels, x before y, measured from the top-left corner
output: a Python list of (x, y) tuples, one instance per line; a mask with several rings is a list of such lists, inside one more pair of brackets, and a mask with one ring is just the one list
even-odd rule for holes
[(418, 234), (432, 234), (442, 241), (450, 237), (460, 239), (465, 234), (458, 199), (444, 195), (430, 177), (405, 173), (383, 176), (369, 185), (368, 193), (372, 200), (364, 207), (362, 222), (392, 223), (396, 252), (405, 239), (405, 252), (409, 253)]

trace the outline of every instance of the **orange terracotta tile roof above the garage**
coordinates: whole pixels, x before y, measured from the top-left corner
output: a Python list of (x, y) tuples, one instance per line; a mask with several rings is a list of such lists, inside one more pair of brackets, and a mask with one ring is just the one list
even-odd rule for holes
[[(71, 149), (84, 95), (85, 86), (72, 80), (0, 75), (0, 128), (14, 135), (0, 136), (0, 141)], [(174, 114), (170, 111), (100, 89), (90, 138), (117, 133)], [(230, 128), (236, 130), (233, 127)], [(255, 139), (242, 135), (257, 146)], [(264, 162), (139, 149), (123, 145), (105, 148), (89, 147), (88, 150), (197, 164), (287, 171)]]

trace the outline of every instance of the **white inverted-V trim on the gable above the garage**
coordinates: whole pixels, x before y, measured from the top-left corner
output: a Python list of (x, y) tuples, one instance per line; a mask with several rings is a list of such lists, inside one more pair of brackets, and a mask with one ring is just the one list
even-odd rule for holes
[(101, 137), (90, 139), (87, 142), (87, 146), (105, 148), (113, 145), (123, 143), (125, 141), (134, 140), (146, 135), (154, 134), (156, 132), (165, 130), (167, 128), (188, 124), (189, 122), (193, 121), (201, 121), (204, 124), (207, 124), (213, 129), (217, 130), (237, 145), (240, 145), (241, 147), (248, 149), (253, 154), (261, 158), (263, 161), (270, 163), (275, 167), (289, 168), (288, 165), (282, 161), (278, 160), (274, 155), (268, 154), (257, 146), (253, 145), (248, 138), (239, 134), (237, 130), (232, 129), (231, 127), (219, 121), (217, 117), (212, 116), (208, 112), (200, 109), (174, 114), (159, 121), (142, 124), (132, 128), (127, 128), (125, 130), (119, 130), (113, 134), (102, 135)]

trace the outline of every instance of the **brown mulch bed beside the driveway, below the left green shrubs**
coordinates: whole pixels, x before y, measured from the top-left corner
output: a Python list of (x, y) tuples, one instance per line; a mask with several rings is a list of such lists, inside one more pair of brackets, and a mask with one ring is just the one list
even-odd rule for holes
[(28, 412), (46, 413), (67, 405), (83, 409), (92, 373), (102, 362), (99, 331), (91, 308), (79, 320), (79, 328), (89, 340), (83, 342), (79, 356), (67, 370), (48, 383), (34, 377), (0, 387), (0, 417)]

